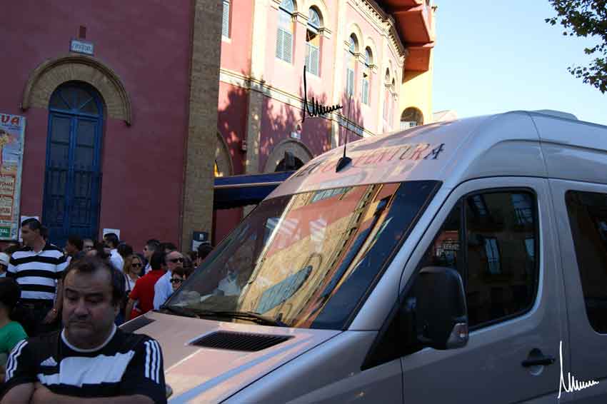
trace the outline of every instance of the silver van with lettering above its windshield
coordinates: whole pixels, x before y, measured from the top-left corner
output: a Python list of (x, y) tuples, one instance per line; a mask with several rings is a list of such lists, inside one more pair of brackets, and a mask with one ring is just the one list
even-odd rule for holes
[(124, 328), (171, 403), (607, 403), (607, 127), (514, 111), (324, 153)]

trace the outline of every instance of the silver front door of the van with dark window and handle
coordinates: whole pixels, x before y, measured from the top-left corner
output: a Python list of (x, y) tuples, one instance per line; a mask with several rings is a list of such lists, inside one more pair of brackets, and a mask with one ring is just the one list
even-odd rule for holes
[(483, 178), (451, 193), (408, 261), (401, 291), (403, 304), (414, 305), (408, 290), (417, 271), (456, 269), (469, 340), (452, 350), (408, 346), (404, 403), (556, 402), (566, 321), (549, 201), (541, 178)]

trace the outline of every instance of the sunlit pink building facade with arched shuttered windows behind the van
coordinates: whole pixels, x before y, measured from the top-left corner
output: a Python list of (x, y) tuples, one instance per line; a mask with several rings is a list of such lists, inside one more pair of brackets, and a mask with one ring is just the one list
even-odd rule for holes
[[(354, 141), (397, 130), (401, 117), (408, 125), (409, 112), (423, 109), (416, 104), (430, 97), (430, 85), (416, 94), (403, 94), (409, 80), (431, 75), (429, 1), (223, 4), (219, 176), (282, 171), (285, 153), (293, 157), (291, 168), (299, 168), (342, 145), (346, 136)], [(426, 81), (431, 84), (431, 78)], [(308, 102), (316, 99), (324, 106), (343, 108), (303, 120), (304, 95)], [(406, 97), (413, 108), (403, 113), (401, 105), (409, 105)], [(214, 239), (221, 240), (240, 219), (239, 209), (216, 211)]]

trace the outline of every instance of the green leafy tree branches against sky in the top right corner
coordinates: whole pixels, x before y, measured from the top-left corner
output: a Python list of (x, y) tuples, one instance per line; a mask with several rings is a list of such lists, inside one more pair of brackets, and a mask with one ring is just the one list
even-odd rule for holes
[(607, 91), (607, 0), (548, 0), (556, 17), (546, 19), (551, 25), (560, 23), (563, 35), (598, 39), (598, 44), (584, 49), (596, 55), (588, 66), (570, 66), (568, 71), (605, 94)]

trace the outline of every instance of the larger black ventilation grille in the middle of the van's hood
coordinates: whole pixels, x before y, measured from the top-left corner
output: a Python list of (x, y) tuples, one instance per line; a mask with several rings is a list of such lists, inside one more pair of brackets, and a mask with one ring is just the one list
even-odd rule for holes
[(191, 345), (204, 346), (205, 348), (244, 350), (255, 352), (270, 348), (271, 346), (284, 343), (293, 337), (286, 335), (264, 335), (249, 333), (228, 333), (226, 331), (217, 331), (204, 337), (194, 340)]

